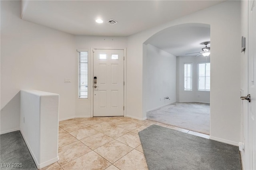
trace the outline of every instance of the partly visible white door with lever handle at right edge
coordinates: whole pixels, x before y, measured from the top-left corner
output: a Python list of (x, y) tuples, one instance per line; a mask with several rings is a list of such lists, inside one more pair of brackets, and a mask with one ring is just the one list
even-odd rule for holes
[[(248, 167), (245, 169), (256, 169), (256, 10), (255, 1), (249, 0), (248, 14), (248, 93), (251, 102), (248, 104)], [(246, 153), (245, 153), (246, 154)]]

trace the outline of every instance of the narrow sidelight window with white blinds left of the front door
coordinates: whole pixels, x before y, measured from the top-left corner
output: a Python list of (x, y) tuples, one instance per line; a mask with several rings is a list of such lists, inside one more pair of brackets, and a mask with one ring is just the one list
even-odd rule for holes
[(88, 98), (88, 51), (78, 51), (78, 98)]

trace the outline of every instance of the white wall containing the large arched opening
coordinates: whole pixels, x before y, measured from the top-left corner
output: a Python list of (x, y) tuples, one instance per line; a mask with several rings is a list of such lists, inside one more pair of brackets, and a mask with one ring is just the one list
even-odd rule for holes
[(145, 47), (143, 43), (155, 33), (183, 23), (210, 24), (210, 136), (211, 139), (237, 145), (240, 139), (241, 109), (240, 1), (226, 1), (129, 36), (127, 41), (127, 56), (129, 56), (127, 60), (127, 81), (129, 82), (127, 83), (127, 90), (129, 90), (127, 113), (140, 119), (146, 117), (146, 81), (144, 79), (146, 55), (143, 54), (143, 47)]

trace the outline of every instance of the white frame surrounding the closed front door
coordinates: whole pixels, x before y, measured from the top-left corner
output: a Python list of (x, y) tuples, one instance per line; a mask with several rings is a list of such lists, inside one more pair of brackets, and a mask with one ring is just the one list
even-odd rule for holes
[(97, 49), (97, 50), (124, 50), (124, 117), (126, 117), (126, 48), (124, 49), (119, 49), (119, 48), (91, 48), (91, 69), (90, 69), (90, 72), (91, 72), (91, 80), (90, 80), (90, 92), (91, 92), (91, 95), (90, 95), (90, 102), (91, 102), (91, 117), (93, 117), (93, 68), (94, 68), (94, 54), (93, 54), (93, 51), (94, 49)]

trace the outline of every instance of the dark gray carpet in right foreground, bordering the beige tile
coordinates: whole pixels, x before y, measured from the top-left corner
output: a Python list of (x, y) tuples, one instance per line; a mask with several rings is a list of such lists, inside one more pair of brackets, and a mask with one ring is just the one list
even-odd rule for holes
[(236, 146), (158, 125), (139, 136), (149, 170), (241, 170)]

